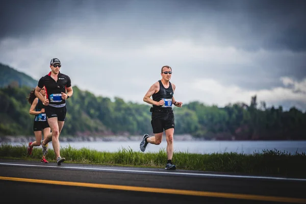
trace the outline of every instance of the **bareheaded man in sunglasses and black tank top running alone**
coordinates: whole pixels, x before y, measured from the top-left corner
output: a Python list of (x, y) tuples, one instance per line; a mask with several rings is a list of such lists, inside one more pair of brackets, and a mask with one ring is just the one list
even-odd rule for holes
[[(168, 157), (165, 169), (175, 170), (176, 167), (172, 164), (174, 134), (172, 105), (181, 108), (183, 103), (175, 101), (173, 97), (175, 85), (170, 83), (172, 68), (163, 66), (161, 71), (162, 79), (154, 83), (143, 97), (143, 101), (153, 105), (150, 112), (152, 112), (151, 125), (154, 136), (149, 137), (148, 134), (145, 134), (140, 143), (140, 150), (145, 151), (148, 143), (159, 145), (162, 142), (163, 132), (165, 131)], [(152, 99), (150, 98), (151, 96)]]

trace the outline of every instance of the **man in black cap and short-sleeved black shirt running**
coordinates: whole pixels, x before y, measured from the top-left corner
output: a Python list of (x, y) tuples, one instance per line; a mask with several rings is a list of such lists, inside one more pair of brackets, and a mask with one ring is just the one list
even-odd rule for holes
[[(57, 158), (57, 164), (61, 165), (65, 158), (60, 156), (59, 136), (64, 126), (66, 117), (66, 99), (72, 96), (73, 90), (70, 78), (60, 72), (61, 61), (53, 58), (50, 62), (51, 71), (40, 78), (35, 95), (45, 105), (45, 113), (47, 121), (52, 131), (52, 137), (45, 137), (41, 142), (43, 155), (48, 152), (48, 142), (52, 140), (53, 149)], [(45, 87), (46, 98), (44, 98), (40, 90)], [(67, 90), (67, 93), (66, 93)]]

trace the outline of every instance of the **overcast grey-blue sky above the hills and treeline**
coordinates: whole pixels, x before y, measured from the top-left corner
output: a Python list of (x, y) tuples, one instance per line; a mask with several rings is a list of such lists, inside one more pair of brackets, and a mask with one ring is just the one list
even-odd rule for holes
[(252, 95), (306, 110), (306, 1), (5, 1), (0, 62), (143, 104), (172, 67), (174, 97), (223, 107)]

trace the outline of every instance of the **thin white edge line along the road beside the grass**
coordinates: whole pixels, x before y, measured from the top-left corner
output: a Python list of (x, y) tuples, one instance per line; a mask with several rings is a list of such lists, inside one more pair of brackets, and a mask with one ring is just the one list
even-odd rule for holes
[(47, 168), (63, 168), (63, 169), (81, 169), (81, 170), (100, 170), (100, 171), (118, 171), (118, 172), (139, 172), (139, 173), (155, 173), (155, 174), (174, 174), (174, 175), (196, 175), (203, 177), (234, 177), (244, 179), (267, 179), (267, 180), (284, 180), (284, 181), (303, 181), (306, 179), (292, 179), (284, 177), (273, 176), (251, 176), (251, 175), (228, 175), (228, 174), (209, 174), (209, 173), (183, 173), (183, 172), (164, 172), (164, 171), (141, 171), (141, 170), (125, 170), (125, 169), (104, 169), (104, 168), (86, 168), (86, 167), (68, 167), (68, 166), (45, 166), (45, 165), (32, 165), (32, 164), (11, 164), (0, 163), (0, 165), (8, 166), (32, 166), (32, 167), (47, 167)]

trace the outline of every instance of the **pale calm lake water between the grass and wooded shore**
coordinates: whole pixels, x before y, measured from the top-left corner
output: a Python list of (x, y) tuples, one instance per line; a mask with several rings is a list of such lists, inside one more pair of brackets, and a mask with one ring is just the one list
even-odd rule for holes
[[(11, 143), (20, 145), (25, 143)], [(140, 141), (121, 141), (121, 142), (61, 142), (61, 147), (72, 146), (80, 149), (86, 147), (98, 151), (115, 152), (121, 148), (131, 148), (133, 151), (140, 151)], [(166, 149), (167, 142), (163, 141), (160, 145), (148, 144), (145, 152), (157, 152), (160, 149)], [(52, 147), (52, 142), (49, 143)], [(306, 141), (174, 141), (175, 152), (190, 152), (197, 154), (211, 154), (213, 152), (237, 152), (243, 154), (252, 154), (253, 152), (262, 152), (264, 149), (277, 149), (288, 151), (294, 154), (296, 151), (306, 152)]]

